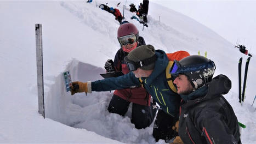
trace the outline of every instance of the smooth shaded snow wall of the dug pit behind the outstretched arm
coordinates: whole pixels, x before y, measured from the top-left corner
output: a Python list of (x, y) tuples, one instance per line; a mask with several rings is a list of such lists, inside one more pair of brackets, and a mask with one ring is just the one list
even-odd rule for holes
[[(67, 70), (70, 70), (72, 81), (82, 82), (103, 79), (100, 74), (105, 73), (103, 68), (79, 62), (76, 59), (72, 59), (72, 61), (67, 64), (64, 71)], [(90, 96), (88, 96), (88, 94), (86, 96), (85, 93), (71, 95), (70, 92), (66, 92), (61, 73), (55, 77), (54, 84), (50, 86), (49, 91), (45, 93), (45, 117), (72, 127), (72, 125), (79, 123), (78, 119), (82, 121), (81, 115), (84, 115), (82, 108), (86, 103), (88, 105), (89, 103), (93, 103), (93, 101), (90, 101), (89, 97), (93, 97), (94, 94), (89, 94)], [(84, 97), (88, 97), (89, 103), (88, 101), (83, 101), (82, 98)], [(79, 98), (82, 100), (79, 100)]]

